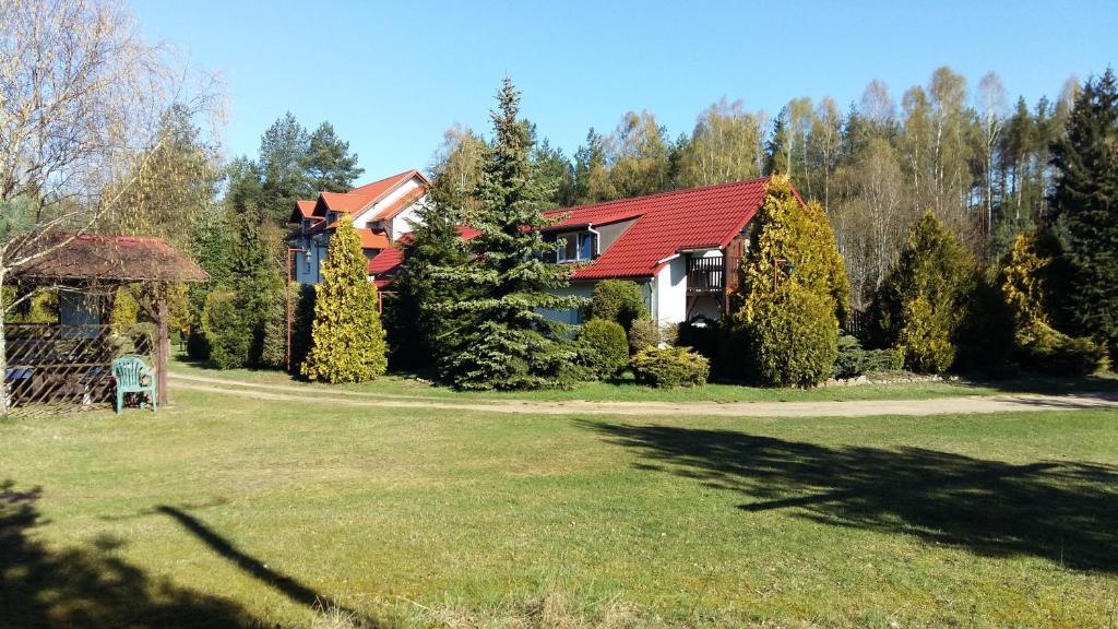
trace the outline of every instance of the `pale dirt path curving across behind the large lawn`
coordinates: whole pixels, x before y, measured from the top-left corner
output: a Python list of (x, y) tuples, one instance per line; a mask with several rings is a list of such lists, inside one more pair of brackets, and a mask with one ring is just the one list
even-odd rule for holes
[(533, 415), (719, 415), (751, 417), (937, 415), (1118, 409), (1118, 394), (996, 395), (937, 400), (864, 400), (850, 402), (587, 402), (530, 400), (440, 400), (402, 395), (322, 389), (300, 385), (234, 382), (187, 374), (170, 374), (180, 391), (202, 391), (277, 402), (334, 404), (376, 409), (438, 409), (482, 413)]

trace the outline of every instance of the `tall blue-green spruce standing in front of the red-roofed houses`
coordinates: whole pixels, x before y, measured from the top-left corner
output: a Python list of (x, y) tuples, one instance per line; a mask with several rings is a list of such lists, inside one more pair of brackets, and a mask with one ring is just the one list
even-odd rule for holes
[(544, 262), (557, 245), (543, 240), (542, 208), (551, 190), (530, 159), (531, 143), (518, 119), (520, 93), (504, 79), (490, 113), (494, 138), (470, 217), (480, 234), (470, 242), (473, 262), (438, 269), (462, 280), (461, 300), (443, 309), (455, 328), (446, 335), (440, 372), (458, 388), (540, 388), (566, 384), (575, 359), (568, 327), (541, 313), (584, 300), (550, 294), (567, 285), (569, 269)]

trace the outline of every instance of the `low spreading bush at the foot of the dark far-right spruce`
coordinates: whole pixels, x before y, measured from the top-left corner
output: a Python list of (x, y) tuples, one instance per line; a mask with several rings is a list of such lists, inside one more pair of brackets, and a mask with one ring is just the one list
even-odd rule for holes
[(1110, 366), (1100, 345), (1039, 322), (1017, 332), (1014, 357), (1025, 370), (1054, 376), (1087, 376)]

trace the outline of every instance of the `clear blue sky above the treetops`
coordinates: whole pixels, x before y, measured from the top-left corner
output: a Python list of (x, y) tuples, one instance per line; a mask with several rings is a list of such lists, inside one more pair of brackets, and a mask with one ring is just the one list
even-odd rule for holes
[(1055, 96), (1118, 65), (1118, 3), (1068, 2), (247, 2), (129, 0), (150, 39), (224, 75), (225, 148), (256, 154), (291, 110), (329, 120), (371, 180), (426, 168), (455, 122), (487, 133), (501, 77), (541, 137), (571, 154), (627, 110), (671, 137), (723, 95), (775, 114), (831, 95), (845, 110), (873, 78), (894, 100), (951, 66), (997, 72), (1011, 103)]

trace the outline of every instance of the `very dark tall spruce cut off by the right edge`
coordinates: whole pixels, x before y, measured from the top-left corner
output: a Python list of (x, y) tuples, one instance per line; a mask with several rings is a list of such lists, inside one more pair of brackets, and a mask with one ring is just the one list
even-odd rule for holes
[(1067, 273), (1068, 331), (1118, 356), (1118, 84), (1112, 69), (1076, 98), (1067, 133), (1052, 147), (1052, 195)]

